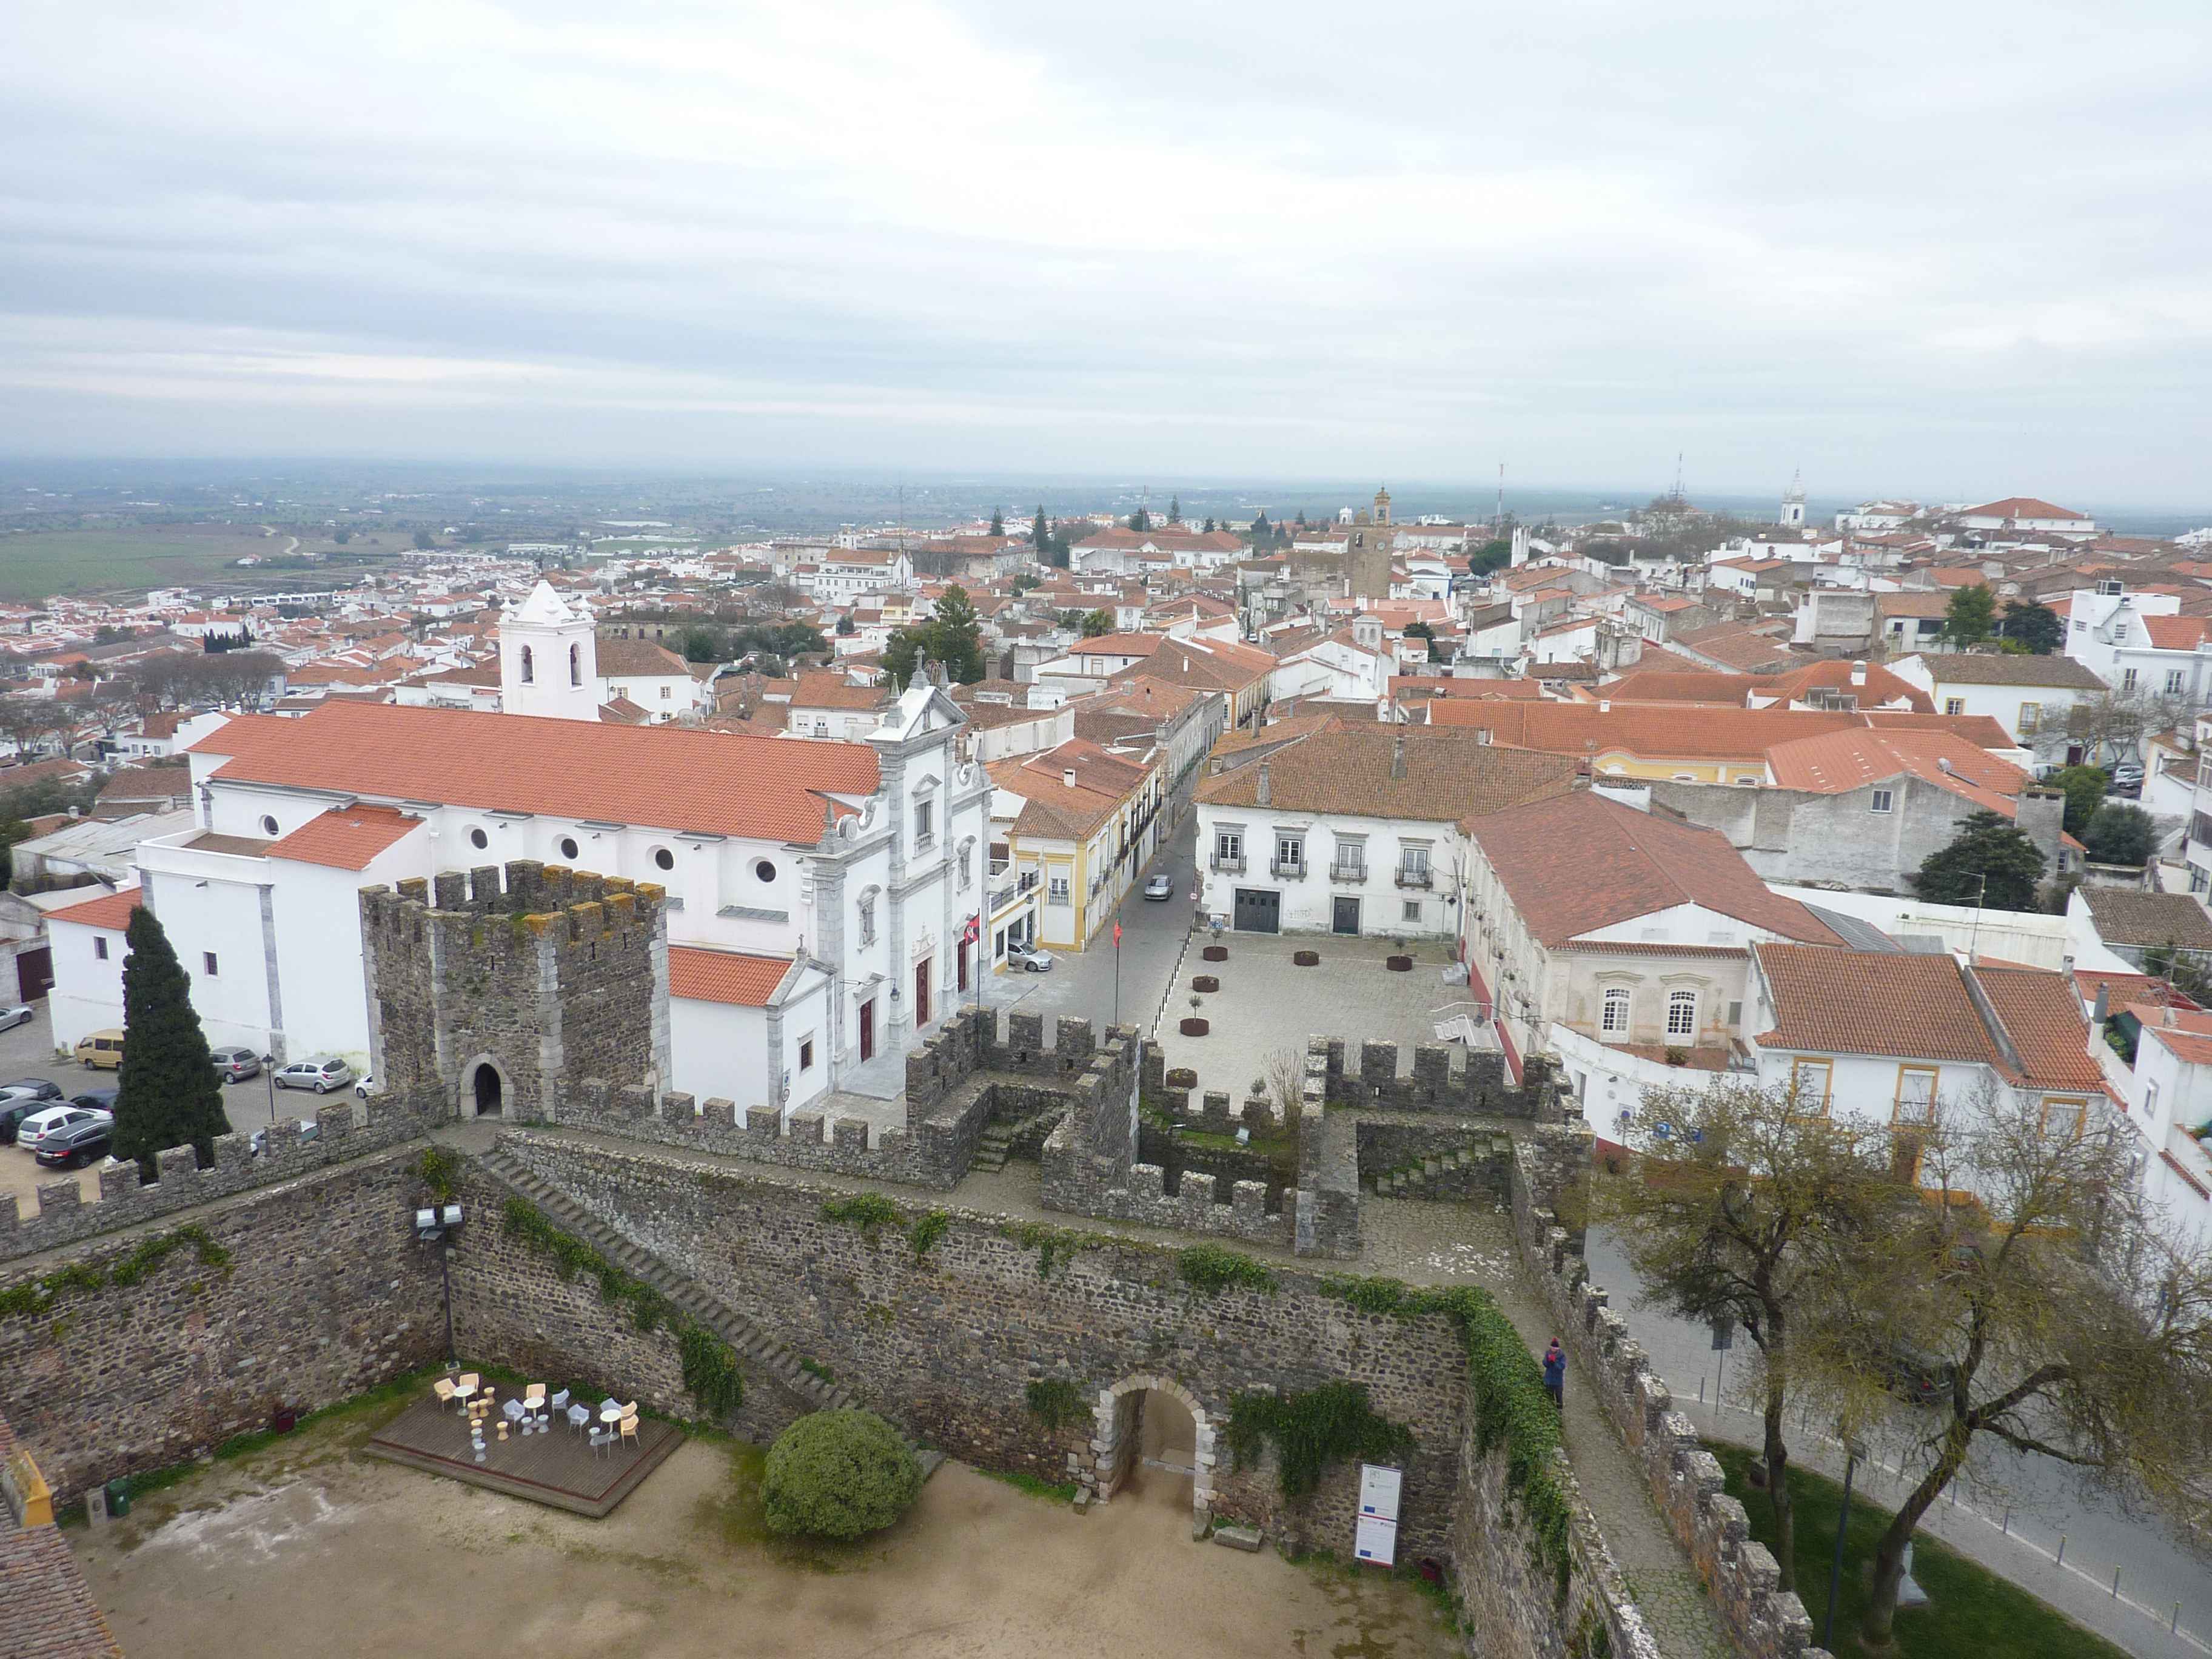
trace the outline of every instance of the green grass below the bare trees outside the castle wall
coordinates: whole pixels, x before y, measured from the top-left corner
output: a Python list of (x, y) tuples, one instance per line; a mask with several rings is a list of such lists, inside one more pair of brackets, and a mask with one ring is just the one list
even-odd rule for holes
[[(1752, 1537), (1774, 1548), (1774, 1506), (1752, 1486), (1752, 1453), (1708, 1447), (1728, 1475), (1728, 1495), (1752, 1517)], [(1796, 1504), (1798, 1597), (1818, 1639), (1827, 1619), (1827, 1573), (1836, 1557), (1836, 1509), (1843, 1486), (1796, 1464), (1790, 1467)], [(1843, 1540), (1843, 1588), (1836, 1604), (1836, 1659), (1860, 1659), (1858, 1621), (1867, 1610), (1874, 1546), (1891, 1511), (1851, 1489), (1851, 1526)], [(1902, 1659), (2124, 1659), (2124, 1650), (2073, 1624), (2015, 1584), (1975, 1566), (1964, 1555), (1920, 1533), (1913, 1540), (1913, 1577), (1929, 1593), (1924, 1608), (1898, 1608), (1896, 1652)]]

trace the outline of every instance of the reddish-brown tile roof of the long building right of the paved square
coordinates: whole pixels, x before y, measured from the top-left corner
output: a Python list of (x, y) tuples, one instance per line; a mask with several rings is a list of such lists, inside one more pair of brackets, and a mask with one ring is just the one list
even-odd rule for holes
[(1843, 942), (1805, 905), (1759, 880), (1719, 830), (1637, 812), (1595, 790), (1493, 812), (1467, 830), (1544, 945), (1674, 905), (1701, 905), (1807, 945)]

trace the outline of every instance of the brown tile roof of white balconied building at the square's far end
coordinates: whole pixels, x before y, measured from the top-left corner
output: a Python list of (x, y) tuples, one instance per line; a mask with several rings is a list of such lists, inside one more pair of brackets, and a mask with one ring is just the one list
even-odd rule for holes
[[(1475, 703), (1473, 708), (1526, 706)], [(1391, 776), (1391, 757), (1400, 741), (1405, 776)], [(1462, 823), (1522, 801), (1566, 794), (1575, 776), (1575, 763), (1566, 757), (1491, 745), (1475, 732), (1332, 723), (1276, 750), (1263, 763), (1206, 779), (1199, 785), (1199, 801), (1259, 805), (1261, 765), (1267, 768), (1270, 807), (1418, 823)]]

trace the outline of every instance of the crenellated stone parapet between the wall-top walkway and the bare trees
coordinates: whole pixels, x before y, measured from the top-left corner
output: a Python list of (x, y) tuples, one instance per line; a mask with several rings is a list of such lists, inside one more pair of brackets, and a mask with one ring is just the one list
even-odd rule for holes
[[(1599, 1407), (1644, 1469), (1652, 1502), (1690, 1553), (1714, 1610), (1741, 1659), (1827, 1659), (1812, 1646), (1812, 1617), (1794, 1590), (1778, 1590), (1781, 1566), (1750, 1535), (1750, 1517), (1723, 1491), (1721, 1464), (1697, 1425), (1674, 1411), (1674, 1396), (1608, 1292), (1588, 1283), (1582, 1259), (1590, 1130), (1537, 1126), (1515, 1144), (1513, 1230), (1522, 1267), (1582, 1363)], [(1562, 1210), (1566, 1219), (1562, 1221)]]

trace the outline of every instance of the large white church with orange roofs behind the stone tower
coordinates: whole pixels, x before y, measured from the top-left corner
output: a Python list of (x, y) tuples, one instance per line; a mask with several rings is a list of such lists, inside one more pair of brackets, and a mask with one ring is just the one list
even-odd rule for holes
[[(239, 719), (190, 752), (190, 827), (137, 847), (139, 898), (210, 1042), (365, 1068), (361, 887), (515, 858), (655, 883), (659, 1082), (790, 1110), (973, 987), (989, 781), (962, 730), (927, 684), (860, 743), (374, 703)], [(49, 918), (55, 1044), (122, 1024), (126, 920)]]

